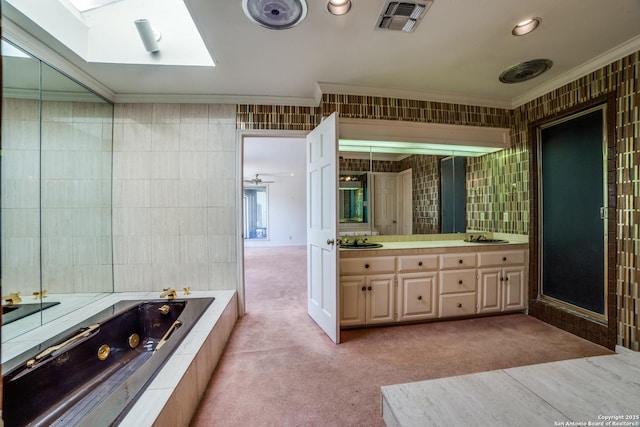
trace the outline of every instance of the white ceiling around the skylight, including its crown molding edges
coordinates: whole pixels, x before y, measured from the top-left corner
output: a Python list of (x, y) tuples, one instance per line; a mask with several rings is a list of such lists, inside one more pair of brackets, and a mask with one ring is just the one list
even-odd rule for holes
[[(640, 49), (640, 0), (434, 0), (413, 33), (374, 29), (385, 0), (352, 1), (347, 15), (333, 16), (326, 0), (307, 0), (305, 20), (276, 31), (251, 22), (241, 0), (185, 0), (215, 67), (87, 62), (20, 13), (7, 13), (116, 102), (317, 105), (325, 92), (510, 108)], [(529, 16), (542, 18), (538, 30), (512, 36)], [(127, 18), (112, 32), (120, 37), (132, 27)], [(169, 37), (163, 33), (161, 52)], [(535, 58), (554, 65), (528, 82), (498, 81), (504, 69)]]

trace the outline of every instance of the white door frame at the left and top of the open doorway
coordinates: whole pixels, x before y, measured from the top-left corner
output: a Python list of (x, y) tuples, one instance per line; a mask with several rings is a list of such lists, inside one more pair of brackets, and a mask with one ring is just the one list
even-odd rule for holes
[(238, 292), (238, 317), (246, 314), (245, 283), (244, 283), (244, 212), (243, 212), (243, 185), (244, 168), (244, 139), (245, 138), (306, 138), (309, 131), (301, 130), (263, 130), (263, 129), (238, 129), (236, 130), (236, 258), (237, 258), (237, 292)]

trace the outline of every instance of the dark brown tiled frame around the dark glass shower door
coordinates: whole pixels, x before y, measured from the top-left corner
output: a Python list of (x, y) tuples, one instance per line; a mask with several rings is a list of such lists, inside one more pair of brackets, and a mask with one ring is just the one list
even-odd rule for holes
[[(582, 338), (607, 348), (615, 348), (617, 339), (617, 307), (616, 307), (616, 132), (615, 115), (616, 101), (615, 92), (596, 97), (590, 101), (576, 105), (571, 108), (556, 112), (546, 117), (541, 117), (528, 124), (528, 149), (529, 149), (529, 200), (530, 218), (529, 221), (529, 314), (546, 323), (558, 328), (574, 333)], [(606, 159), (606, 192), (607, 192), (607, 220), (605, 251), (606, 264), (606, 319), (595, 319), (575, 310), (570, 310), (567, 306), (561, 305), (548, 298), (541, 297), (540, 291), (540, 243), (541, 236), (539, 216), (541, 199), (539, 190), (540, 176), (538, 174), (538, 130), (552, 122), (557, 122), (563, 118), (573, 116), (577, 113), (589, 110), (598, 105), (606, 104), (606, 139), (607, 139), (607, 159)]]

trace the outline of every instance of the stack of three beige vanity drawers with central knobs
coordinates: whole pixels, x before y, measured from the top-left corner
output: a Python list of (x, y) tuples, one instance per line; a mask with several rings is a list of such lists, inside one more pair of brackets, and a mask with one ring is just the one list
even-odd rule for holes
[(440, 317), (476, 314), (476, 254), (440, 255), (440, 264)]

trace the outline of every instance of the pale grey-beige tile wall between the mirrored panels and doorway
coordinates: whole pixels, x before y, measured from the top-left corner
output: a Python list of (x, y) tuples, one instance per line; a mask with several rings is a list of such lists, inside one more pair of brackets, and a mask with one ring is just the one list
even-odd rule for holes
[(114, 286), (235, 289), (236, 107), (116, 104)]

